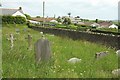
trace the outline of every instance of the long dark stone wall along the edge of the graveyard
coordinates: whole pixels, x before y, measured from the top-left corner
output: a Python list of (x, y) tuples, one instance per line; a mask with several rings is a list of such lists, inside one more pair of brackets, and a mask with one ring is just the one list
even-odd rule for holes
[(73, 40), (86, 40), (94, 43), (100, 43), (106, 45), (108, 47), (112, 47), (115, 49), (120, 49), (120, 36), (116, 35), (103, 35), (96, 33), (88, 33), (88, 32), (80, 32), (80, 31), (72, 31), (58, 28), (46, 28), (46, 27), (30, 27), (37, 31), (42, 31), (44, 33), (50, 33), (57, 36), (67, 36), (72, 38)]

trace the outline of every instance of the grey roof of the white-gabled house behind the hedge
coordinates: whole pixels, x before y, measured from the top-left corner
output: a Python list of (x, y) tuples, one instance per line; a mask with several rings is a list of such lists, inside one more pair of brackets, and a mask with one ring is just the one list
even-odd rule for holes
[[(2, 11), (2, 13), (0, 13), (0, 15), (13, 15), (14, 13), (16, 13), (17, 11), (20, 11), (21, 13), (23, 13), (22, 9), (6, 9), (6, 8), (0, 8), (0, 11)], [(23, 13), (24, 14), (24, 13)]]

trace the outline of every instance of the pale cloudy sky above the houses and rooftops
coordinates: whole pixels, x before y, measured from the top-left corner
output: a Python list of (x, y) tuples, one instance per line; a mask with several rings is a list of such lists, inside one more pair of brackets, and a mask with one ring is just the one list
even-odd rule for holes
[[(118, 2), (120, 0), (44, 0), (45, 16), (56, 17), (80, 16), (83, 19), (118, 19)], [(3, 0), (3, 8), (22, 7), (30, 16), (42, 16), (43, 0)]]

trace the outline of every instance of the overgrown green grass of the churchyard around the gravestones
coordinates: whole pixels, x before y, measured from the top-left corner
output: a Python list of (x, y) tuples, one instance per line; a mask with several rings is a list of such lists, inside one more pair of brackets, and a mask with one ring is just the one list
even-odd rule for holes
[[(15, 28), (20, 29), (16, 34)], [(118, 68), (118, 59), (115, 50), (100, 44), (87, 41), (72, 40), (67, 37), (46, 34), (51, 43), (52, 58), (47, 63), (35, 65), (34, 43), (41, 38), (39, 32), (28, 29), (25, 25), (3, 25), (2, 35), (2, 60), (4, 78), (111, 78), (113, 69)], [(10, 50), (8, 35), (13, 33), (15, 38), (14, 49)], [(27, 50), (28, 44), (25, 37), (32, 35), (32, 50)], [(95, 60), (95, 53), (109, 51), (109, 55)], [(70, 64), (68, 59), (77, 57), (81, 62)]]

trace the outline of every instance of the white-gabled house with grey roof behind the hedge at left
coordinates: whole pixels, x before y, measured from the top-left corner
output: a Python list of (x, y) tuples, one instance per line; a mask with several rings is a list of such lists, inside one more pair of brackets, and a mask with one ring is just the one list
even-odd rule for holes
[(0, 11), (2, 11), (0, 15), (22, 16), (26, 18), (21, 7), (19, 9), (0, 8)]

